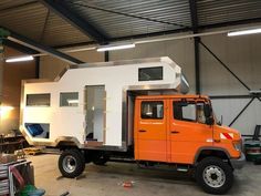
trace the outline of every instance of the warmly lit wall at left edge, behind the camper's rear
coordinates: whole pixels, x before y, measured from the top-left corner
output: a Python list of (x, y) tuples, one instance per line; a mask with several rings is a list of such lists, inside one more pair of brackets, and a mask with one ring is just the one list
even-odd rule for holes
[[(4, 47), (4, 58), (24, 54)], [(34, 78), (34, 61), (6, 63), (0, 60), (0, 102), (3, 106), (0, 109), (0, 134), (19, 128), (21, 80)]]

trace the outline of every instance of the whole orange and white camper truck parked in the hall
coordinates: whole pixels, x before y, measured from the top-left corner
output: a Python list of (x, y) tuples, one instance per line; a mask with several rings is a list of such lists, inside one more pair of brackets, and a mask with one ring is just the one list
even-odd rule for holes
[(241, 135), (188, 89), (169, 58), (80, 64), (54, 81), (23, 81), (20, 130), (31, 145), (61, 149), (65, 177), (122, 158), (192, 171), (203, 190), (223, 194), (244, 163)]

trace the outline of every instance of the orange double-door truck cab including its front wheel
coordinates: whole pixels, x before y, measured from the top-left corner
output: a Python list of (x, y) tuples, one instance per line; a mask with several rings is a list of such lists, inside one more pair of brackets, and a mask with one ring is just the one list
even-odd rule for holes
[(243, 166), (240, 133), (216, 121), (207, 96), (137, 96), (134, 121), (136, 161), (194, 167), (207, 193), (226, 193)]

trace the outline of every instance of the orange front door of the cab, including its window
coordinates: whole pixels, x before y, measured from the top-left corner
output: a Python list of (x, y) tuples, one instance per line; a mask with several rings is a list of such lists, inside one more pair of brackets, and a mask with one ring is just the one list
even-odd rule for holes
[(170, 159), (194, 163), (199, 147), (212, 145), (212, 126), (206, 124), (205, 100), (171, 100), (169, 110)]

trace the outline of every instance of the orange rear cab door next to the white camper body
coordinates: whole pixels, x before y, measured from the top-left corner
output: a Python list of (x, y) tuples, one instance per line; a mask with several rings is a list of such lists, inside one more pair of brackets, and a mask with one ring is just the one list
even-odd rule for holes
[(135, 107), (135, 159), (166, 162), (165, 100), (137, 100)]

